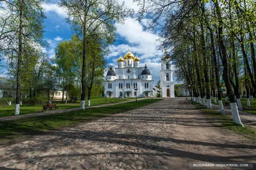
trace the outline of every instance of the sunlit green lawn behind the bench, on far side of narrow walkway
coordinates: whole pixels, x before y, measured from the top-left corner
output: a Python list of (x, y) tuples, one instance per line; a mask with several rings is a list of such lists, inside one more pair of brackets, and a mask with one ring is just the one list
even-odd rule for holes
[[(133, 98), (92, 98), (91, 106), (101, 104), (113, 104), (116, 102), (124, 102), (132, 100)], [(80, 107), (79, 103), (74, 104), (57, 104), (58, 109), (72, 109)], [(85, 101), (85, 106), (88, 106), (88, 100)], [(42, 105), (20, 105), (20, 115), (29, 114), (33, 112), (41, 112)], [(14, 116), (15, 105), (0, 106), (0, 118), (6, 116)]]

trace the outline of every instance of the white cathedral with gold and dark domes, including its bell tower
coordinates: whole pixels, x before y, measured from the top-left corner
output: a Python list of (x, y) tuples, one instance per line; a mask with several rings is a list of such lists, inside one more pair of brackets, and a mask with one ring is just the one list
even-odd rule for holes
[(147, 65), (140, 66), (140, 58), (137, 55), (134, 58), (130, 50), (117, 62), (115, 71), (110, 67), (106, 75), (105, 97), (157, 97), (157, 93), (161, 97), (175, 97), (172, 61), (166, 51), (161, 61), (160, 88), (153, 85), (154, 80)]

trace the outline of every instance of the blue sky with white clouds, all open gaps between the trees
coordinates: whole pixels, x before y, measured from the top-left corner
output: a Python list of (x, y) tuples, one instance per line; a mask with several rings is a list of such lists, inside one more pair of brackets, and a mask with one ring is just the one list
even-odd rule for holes
[[(70, 40), (74, 31), (66, 22), (67, 13), (63, 8), (58, 6), (59, 0), (50, 0), (42, 4), (46, 19), (44, 22), (44, 39), (49, 43), (49, 47), (45, 52), (49, 58), (54, 58), (55, 48), (63, 40)], [(138, 11), (138, 4), (133, 3), (133, 0), (118, 0), (120, 3), (125, 2), (127, 8)], [(134, 55), (137, 53), (141, 59), (141, 66), (147, 63), (148, 69), (152, 73), (154, 84), (160, 79), (160, 62), (164, 55), (163, 50), (157, 50), (160, 38), (157, 33), (147, 31), (148, 22), (150, 19), (142, 19), (141, 22), (136, 20), (136, 17), (125, 18), (124, 24), (115, 24), (116, 27), (116, 41), (113, 45), (109, 45), (109, 54), (105, 56), (108, 61), (107, 66), (116, 66), (117, 59), (124, 54), (128, 49)], [(0, 73), (1, 74), (1, 73)]]

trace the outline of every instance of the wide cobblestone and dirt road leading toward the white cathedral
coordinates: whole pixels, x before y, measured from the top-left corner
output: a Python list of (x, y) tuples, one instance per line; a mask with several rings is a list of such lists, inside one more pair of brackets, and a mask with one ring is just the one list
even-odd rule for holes
[(191, 162), (256, 162), (255, 141), (213, 125), (218, 121), (184, 99), (165, 99), (1, 146), (0, 169), (189, 169)]

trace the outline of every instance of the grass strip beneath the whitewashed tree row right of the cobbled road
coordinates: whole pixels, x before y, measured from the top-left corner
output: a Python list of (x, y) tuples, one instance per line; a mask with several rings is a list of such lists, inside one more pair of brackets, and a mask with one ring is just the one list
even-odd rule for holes
[[(247, 137), (248, 139), (255, 140), (256, 139), (256, 132), (251, 128), (250, 126), (244, 125), (242, 127), (241, 125), (236, 125), (233, 120), (232, 116), (229, 115), (221, 115), (220, 112), (214, 111), (213, 109), (207, 109), (204, 106), (193, 103), (197, 109), (207, 114), (207, 116), (211, 118), (216, 118), (216, 125), (221, 125), (223, 128), (228, 128), (229, 130), (232, 130), (236, 132), (237, 134), (241, 134), (244, 137)], [(221, 120), (221, 121), (220, 121)]]

